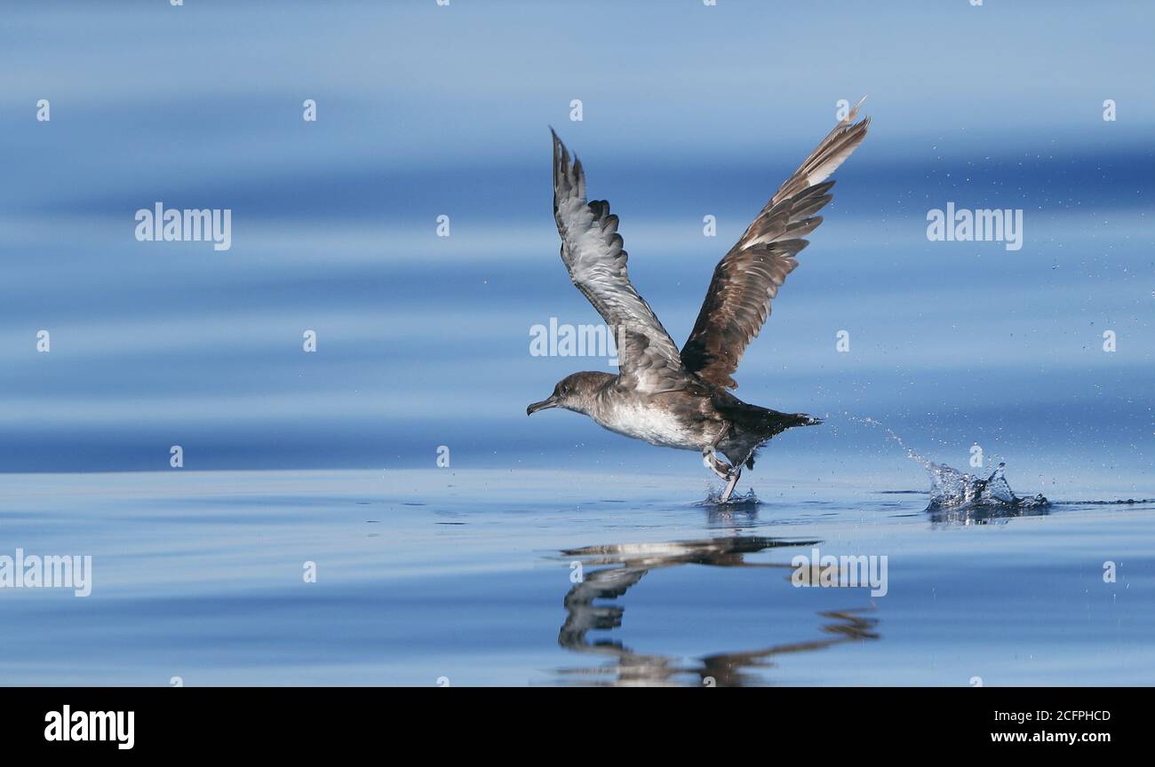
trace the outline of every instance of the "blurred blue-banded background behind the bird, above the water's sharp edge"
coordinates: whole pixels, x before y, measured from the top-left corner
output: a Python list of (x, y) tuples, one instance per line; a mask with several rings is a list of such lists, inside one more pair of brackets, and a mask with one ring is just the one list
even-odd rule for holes
[[(633, 281), (680, 344), (717, 260), (839, 100), (869, 95), (871, 134), (736, 376), (744, 399), (827, 416), (762, 471), (924, 486), (849, 414), (956, 466), (978, 443), (1031, 491), (1149, 482), (1149, 2), (5, 16), (0, 471), (167, 471), (174, 444), (188, 471), (433, 467), (447, 445), (455, 468), (708, 479), (691, 453), (524, 415), (568, 373), (612, 369), (529, 352), (550, 317), (599, 321), (558, 258), (547, 126), (620, 215)], [(137, 242), (157, 202), (231, 209), (231, 250)], [(948, 202), (1023, 209), (1022, 249), (927, 241)]]

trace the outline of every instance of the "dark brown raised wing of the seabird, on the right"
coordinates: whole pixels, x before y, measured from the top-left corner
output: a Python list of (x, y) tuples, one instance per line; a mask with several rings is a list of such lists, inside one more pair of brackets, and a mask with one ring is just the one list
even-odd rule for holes
[(686, 370), (718, 386), (737, 389), (731, 374), (770, 315), (770, 300), (798, 265), (795, 256), (810, 245), (802, 238), (822, 223), (814, 213), (830, 202), (834, 181), (826, 181), (827, 176), (866, 137), (870, 118), (851, 125), (857, 114), (856, 105), (718, 262), (698, 322), (681, 348)]

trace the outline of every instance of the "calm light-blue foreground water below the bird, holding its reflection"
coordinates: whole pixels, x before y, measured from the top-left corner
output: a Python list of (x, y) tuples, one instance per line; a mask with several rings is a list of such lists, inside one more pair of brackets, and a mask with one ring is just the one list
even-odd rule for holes
[[(94, 587), (2, 594), (0, 682), (1155, 683), (1155, 504), (855, 484), (721, 511), (696, 475), (8, 475), (0, 540), (92, 555)], [(815, 546), (886, 555), (887, 593), (793, 586)]]

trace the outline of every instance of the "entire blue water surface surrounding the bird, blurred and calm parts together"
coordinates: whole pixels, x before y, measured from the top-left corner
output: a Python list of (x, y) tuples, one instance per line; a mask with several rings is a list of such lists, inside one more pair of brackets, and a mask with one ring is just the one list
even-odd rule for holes
[[(91, 554), (97, 580), (0, 591), (22, 626), (0, 683), (554, 684), (613, 659), (685, 683), (767, 648), (713, 676), (1155, 682), (1150, 505), (1070, 505), (1155, 497), (1150, 5), (589, 5), (5, 10), (0, 555)], [(530, 354), (534, 325), (597, 321), (558, 260), (547, 126), (680, 341), (863, 93), (870, 136), (736, 376), (825, 420), (744, 475), (765, 505), (720, 517), (695, 454), (526, 418), (612, 369)], [(232, 248), (137, 242), (156, 202), (231, 209)], [(1022, 249), (927, 241), (948, 202), (1021, 208)], [(964, 469), (978, 445), (1056, 504), (926, 513), (865, 418)], [(891, 592), (793, 588), (710, 542), (735, 537), (758, 565), (798, 541), (889, 555)], [(587, 558), (564, 551), (627, 543), (658, 549), (595, 600), (620, 627), (561, 632)]]

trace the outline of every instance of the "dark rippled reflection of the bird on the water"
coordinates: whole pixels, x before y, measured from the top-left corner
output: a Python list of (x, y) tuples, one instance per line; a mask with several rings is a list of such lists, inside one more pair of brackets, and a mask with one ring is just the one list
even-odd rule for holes
[[(815, 546), (820, 541), (782, 540), (760, 536), (715, 537), (670, 543), (623, 543), (568, 549), (564, 557), (579, 557), (583, 579), (565, 597), (566, 622), (558, 633), (558, 644), (575, 653), (604, 656), (591, 668), (567, 668), (559, 671), (562, 684), (595, 686), (680, 686), (708, 685), (737, 687), (765, 684), (760, 670), (773, 668), (774, 657), (788, 653), (824, 649), (843, 642), (877, 639), (877, 618), (872, 610), (834, 610), (818, 612), (825, 637), (750, 651), (716, 653), (696, 660), (636, 653), (614, 639), (590, 640), (591, 630), (612, 631), (621, 626), (621, 604), (595, 603), (595, 600), (618, 600), (650, 570), (699, 564), (716, 567), (778, 567), (789, 564), (751, 563), (748, 554), (781, 547)], [(594, 569), (598, 567), (599, 569)]]

